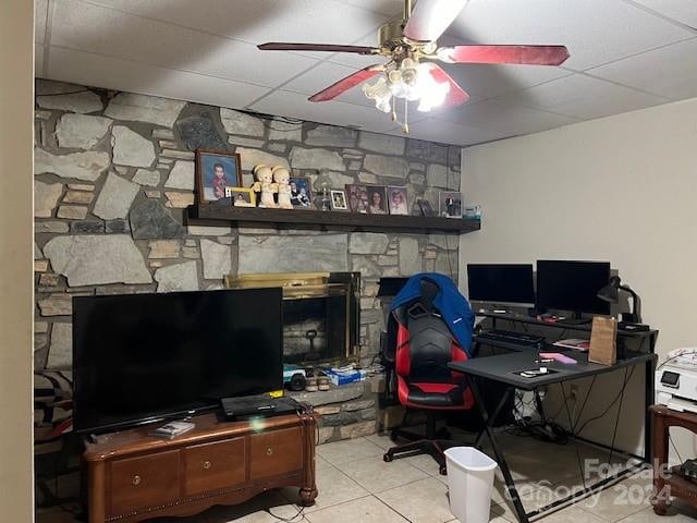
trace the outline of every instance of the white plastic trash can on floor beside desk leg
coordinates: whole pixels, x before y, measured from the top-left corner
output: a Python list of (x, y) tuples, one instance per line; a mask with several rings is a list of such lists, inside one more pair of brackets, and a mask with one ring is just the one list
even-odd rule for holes
[(474, 447), (445, 450), (450, 511), (460, 523), (488, 523), (497, 464)]

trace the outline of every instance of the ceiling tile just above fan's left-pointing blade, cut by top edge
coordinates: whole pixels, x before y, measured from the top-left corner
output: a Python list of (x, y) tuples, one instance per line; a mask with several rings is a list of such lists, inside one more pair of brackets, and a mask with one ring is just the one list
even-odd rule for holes
[[(388, 16), (341, 0), (97, 0), (105, 7), (253, 44), (355, 40)], [(359, 2), (376, 3), (376, 2)], [(377, 2), (387, 3), (387, 2)], [(378, 7), (379, 9), (379, 7)]]

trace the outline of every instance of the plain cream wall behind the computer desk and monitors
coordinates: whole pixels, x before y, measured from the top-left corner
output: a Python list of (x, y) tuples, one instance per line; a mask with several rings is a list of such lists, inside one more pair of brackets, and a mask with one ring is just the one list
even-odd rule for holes
[[(697, 99), (466, 148), (462, 173), (484, 218), (461, 238), (461, 288), (467, 263), (610, 260), (660, 329), (661, 356), (697, 345)], [(640, 384), (632, 391), (627, 410), (640, 410)], [(624, 441), (639, 445), (632, 425)]]

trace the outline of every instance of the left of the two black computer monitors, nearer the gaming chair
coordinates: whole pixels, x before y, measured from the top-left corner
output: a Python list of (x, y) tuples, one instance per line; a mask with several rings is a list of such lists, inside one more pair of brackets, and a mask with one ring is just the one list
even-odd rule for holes
[(533, 305), (531, 264), (468, 264), (469, 300), (496, 304)]

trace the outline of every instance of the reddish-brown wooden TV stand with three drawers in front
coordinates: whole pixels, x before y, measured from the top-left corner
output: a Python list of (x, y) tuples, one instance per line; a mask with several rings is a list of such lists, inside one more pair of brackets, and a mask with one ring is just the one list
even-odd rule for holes
[(206, 414), (192, 422), (196, 428), (171, 440), (148, 436), (150, 426), (85, 441), (89, 523), (193, 515), (284, 486), (314, 502), (313, 414), (252, 423)]

